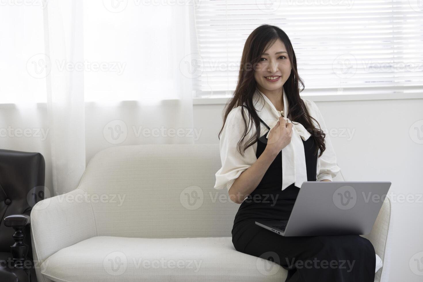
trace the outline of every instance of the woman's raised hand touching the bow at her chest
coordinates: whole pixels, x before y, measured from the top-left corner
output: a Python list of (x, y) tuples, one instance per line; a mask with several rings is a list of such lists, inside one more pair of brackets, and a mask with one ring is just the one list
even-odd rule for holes
[(264, 150), (268, 150), (273, 155), (279, 154), (291, 142), (292, 126), (292, 123), (287, 123), (283, 117), (279, 117), (277, 124), (270, 129)]

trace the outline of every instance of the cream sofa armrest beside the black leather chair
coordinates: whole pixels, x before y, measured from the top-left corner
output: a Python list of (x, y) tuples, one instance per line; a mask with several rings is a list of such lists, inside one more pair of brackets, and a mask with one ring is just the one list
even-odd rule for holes
[[(44, 261), (60, 249), (97, 235), (91, 202), (77, 188), (39, 201), (31, 211), (33, 258), (38, 281)], [(48, 261), (46, 262), (48, 263)], [(41, 269), (40, 269), (41, 268)]]

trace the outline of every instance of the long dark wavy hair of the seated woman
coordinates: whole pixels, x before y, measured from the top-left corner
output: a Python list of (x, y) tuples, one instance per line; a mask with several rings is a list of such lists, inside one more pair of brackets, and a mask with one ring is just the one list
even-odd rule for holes
[[(299, 92), (304, 90), (304, 82), (299, 77), (297, 72), (297, 58), (295, 57), (295, 52), (292, 48), (291, 41), (283, 30), (274, 25), (261, 25), (257, 27), (255, 30), (253, 30), (250, 36), (248, 36), (247, 41), (245, 41), (244, 50), (242, 51), (241, 67), (239, 69), (238, 83), (236, 85), (233, 96), (231, 99), (229, 99), (225, 106), (223, 125), (219, 131), (218, 137), (220, 139), (220, 134), (222, 133), (223, 127), (225, 126), (226, 118), (228, 118), (229, 112), (231, 112), (231, 110), (236, 107), (244, 105), (248, 112), (248, 121), (250, 121), (250, 119), (253, 120), (257, 134), (255, 137), (251, 137), (244, 145), (244, 148), (242, 148), (242, 142), (247, 136), (247, 132), (250, 131), (247, 131), (247, 120), (245, 118), (244, 110), (242, 110), (241, 115), (244, 120), (244, 134), (237, 145), (239, 153), (244, 156), (245, 149), (257, 142), (259, 137), (258, 135), (260, 134), (258, 130), (260, 126), (260, 119), (253, 105), (253, 94), (256, 90), (257, 84), (254, 79), (254, 70), (255, 66), (258, 64), (261, 58), (261, 54), (269, 49), (273, 43), (277, 41), (277, 39), (280, 39), (280, 41), (285, 44), (289, 61), (292, 64), (291, 74), (283, 85), (283, 91), (286, 93), (286, 98), (288, 99), (289, 104), (287, 118), (289, 118), (292, 122), (295, 121), (301, 123), (305, 129), (310, 132), (310, 137), (314, 139), (314, 142), (317, 145), (314, 154), (316, 155), (320, 149), (320, 157), (326, 149), (324, 143), (324, 137), (326, 134), (320, 129), (319, 122), (309, 115), (304, 101), (302, 101), (299, 96)], [(299, 85), (301, 85), (301, 89), (299, 89)], [(314, 126), (312, 119), (315, 120), (319, 125), (319, 129)], [(250, 124), (250, 122), (248, 122), (248, 124)]]

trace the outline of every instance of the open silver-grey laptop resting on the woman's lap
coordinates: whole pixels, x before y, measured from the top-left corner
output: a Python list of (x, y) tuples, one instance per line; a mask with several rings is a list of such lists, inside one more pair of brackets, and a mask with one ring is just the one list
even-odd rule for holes
[(367, 235), (391, 182), (305, 181), (288, 220), (257, 220), (282, 236)]

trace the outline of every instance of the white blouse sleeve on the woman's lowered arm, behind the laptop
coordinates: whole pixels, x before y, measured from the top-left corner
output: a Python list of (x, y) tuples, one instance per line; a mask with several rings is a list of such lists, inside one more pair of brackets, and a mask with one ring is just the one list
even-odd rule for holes
[(323, 116), (321, 115), (319, 108), (317, 107), (314, 101), (308, 100), (308, 103), (310, 103), (311, 105), (310, 108), (313, 109), (312, 111), (310, 111), (310, 115), (319, 122), (321, 130), (326, 133), (326, 136), (324, 137), (326, 149), (324, 150), (322, 155), (317, 159), (316, 181), (322, 181), (324, 179), (332, 181), (332, 178), (335, 178), (341, 168), (338, 167), (338, 164), (336, 162), (335, 151), (333, 150), (332, 142), (330, 141), (330, 136), (326, 128), (326, 123), (324, 122)]

